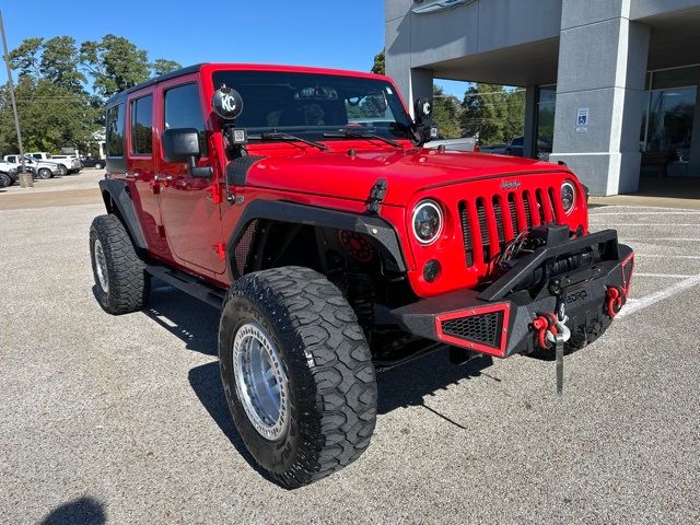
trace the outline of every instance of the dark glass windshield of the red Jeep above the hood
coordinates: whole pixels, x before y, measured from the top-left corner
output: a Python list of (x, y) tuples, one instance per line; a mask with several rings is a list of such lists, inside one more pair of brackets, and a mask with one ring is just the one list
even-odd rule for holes
[(235, 89), (244, 102), (236, 126), (248, 135), (287, 132), (311, 140), (340, 129), (407, 139), (410, 117), (384, 80), (281, 71), (217, 71), (214, 89)]

